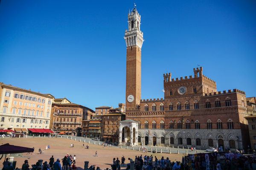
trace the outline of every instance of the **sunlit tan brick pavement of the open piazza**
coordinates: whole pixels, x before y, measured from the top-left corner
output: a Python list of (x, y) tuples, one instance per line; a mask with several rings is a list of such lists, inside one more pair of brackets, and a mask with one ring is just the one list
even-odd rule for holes
[[(110, 164), (112, 163), (113, 157), (118, 157), (121, 160), (122, 156), (125, 156), (125, 163), (128, 162), (128, 157), (134, 160), (136, 155), (143, 155), (142, 151), (138, 150), (129, 150), (126, 148), (117, 148), (117, 147), (103, 147), (95, 144), (88, 144), (87, 142), (79, 142), (65, 138), (4, 138), (0, 139), (0, 144), (14, 144), (24, 147), (35, 147), (35, 155), (27, 155), (23, 153), (22, 157), (15, 157), (14, 160), (17, 161), (18, 168), (21, 169), (21, 166), (24, 160), (29, 161), (31, 167), (32, 164), (35, 164), (38, 159), (43, 159), (49, 163), (49, 158), (53, 155), (55, 160), (57, 158), (62, 159), (67, 153), (72, 156), (76, 155), (76, 165), (77, 167), (84, 168), (84, 161), (89, 161), (89, 166), (95, 164), (96, 167), (99, 166), (102, 168), (111, 168)], [(74, 144), (74, 148), (70, 147), (70, 144)], [(89, 149), (84, 149), (82, 145), (86, 146), (88, 144)], [(46, 145), (50, 145), (50, 150), (45, 150)], [(38, 149), (41, 147), (44, 150), (44, 154), (39, 155)], [(98, 150), (98, 157), (95, 157), (95, 151)], [(160, 149), (159, 149), (160, 150)], [(148, 152), (148, 155), (151, 155)], [(157, 156), (160, 159), (161, 156), (169, 157), (171, 161), (181, 161), (183, 154), (177, 153), (152, 153), (153, 156)], [(28, 159), (30, 157), (30, 159)], [(3, 156), (4, 159), (4, 156)], [(3, 159), (1, 160), (3, 162)], [(79, 168), (79, 169), (80, 169)]]

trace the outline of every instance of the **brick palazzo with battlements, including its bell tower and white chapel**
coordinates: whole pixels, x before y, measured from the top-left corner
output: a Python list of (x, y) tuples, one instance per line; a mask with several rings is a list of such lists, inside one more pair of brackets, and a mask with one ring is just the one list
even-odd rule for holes
[(194, 68), (189, 77), (173, 79), (171, 73), (163, 74), (164, 99), (141, 99), (140, 21), (134, 8), (125, 31), (126, 120), (119, 125), (119, 144), (247, 148), (250, 139), (244, 117), (250, 113), (245, 92), (218, 91), (202, 67)]

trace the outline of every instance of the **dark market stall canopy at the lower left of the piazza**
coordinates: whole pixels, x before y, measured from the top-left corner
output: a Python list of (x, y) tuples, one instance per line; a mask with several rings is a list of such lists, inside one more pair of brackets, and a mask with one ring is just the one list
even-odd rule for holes
[(34, 148), (15, 146), (9, 143), (0, 146), (0, 154), (34, 152)]

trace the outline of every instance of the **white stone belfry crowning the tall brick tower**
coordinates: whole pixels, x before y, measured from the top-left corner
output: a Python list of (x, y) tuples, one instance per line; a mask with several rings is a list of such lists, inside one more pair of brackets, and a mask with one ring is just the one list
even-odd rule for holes
[(140, 14), (134, 7), (131, 13), (128, 14), (128, 30), (125, 30), (126, 47), (137, 45), (142, 48), (143, 32), (140, 31)]

